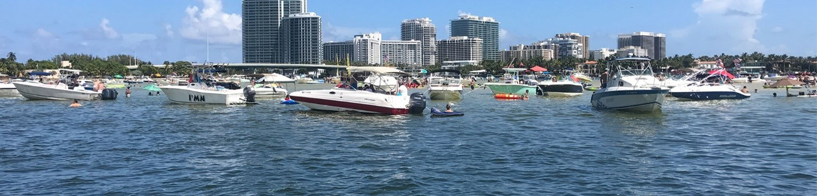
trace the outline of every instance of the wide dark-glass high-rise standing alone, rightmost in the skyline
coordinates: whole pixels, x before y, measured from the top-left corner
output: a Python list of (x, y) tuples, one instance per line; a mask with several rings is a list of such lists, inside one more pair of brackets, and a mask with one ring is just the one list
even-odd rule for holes
[(618, 34), (618, 48), (641, 47), (650, 59), (667, 57), (667, 36), (663, 33), (635, 32)]

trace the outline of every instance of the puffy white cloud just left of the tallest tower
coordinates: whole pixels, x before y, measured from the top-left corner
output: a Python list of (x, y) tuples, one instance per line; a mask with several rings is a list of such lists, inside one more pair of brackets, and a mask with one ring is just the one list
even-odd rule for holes
[(203, 8), (187, 7), (179, 34), (182, 38), (241, 44), (241, 16), (222, 11), (221, 0), (202, 0)]

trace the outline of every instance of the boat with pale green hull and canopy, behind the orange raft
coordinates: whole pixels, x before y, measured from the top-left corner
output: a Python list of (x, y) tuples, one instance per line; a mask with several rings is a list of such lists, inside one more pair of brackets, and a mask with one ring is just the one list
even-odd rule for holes
[(488, 82), (485, 86), (491, 88), (493, 94), (513, 94), (525, 95), (525, 91), (530, 94), (536, 93), (536, 84), (532, 81), (519, 80), (519, 73), (527, 69), (524, 68), (503, 68), (505, 74), (500, 78), (499, 82)]

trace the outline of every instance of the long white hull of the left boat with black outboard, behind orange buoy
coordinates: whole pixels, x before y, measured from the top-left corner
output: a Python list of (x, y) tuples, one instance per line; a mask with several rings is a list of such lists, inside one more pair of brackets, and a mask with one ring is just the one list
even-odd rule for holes
[(20, 96), (29, 100), (101, 100), (102, 93), (72, 90), (36, 82), (14, 82)]

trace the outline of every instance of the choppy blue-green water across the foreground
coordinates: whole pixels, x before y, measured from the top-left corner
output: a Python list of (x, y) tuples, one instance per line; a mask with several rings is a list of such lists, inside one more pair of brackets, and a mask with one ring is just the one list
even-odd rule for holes
[(589, 92), (493, 100), (478, 90), (454, 102), (466, 113), (456, 118), (279, 100), (175, 105), (146, 93), (76, 109), (0, 99), (0, 194), (817, 193), (817, 99), (766, 90), (669, 99), (658, 114), (592, 109)]

